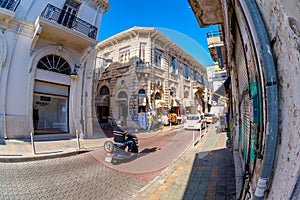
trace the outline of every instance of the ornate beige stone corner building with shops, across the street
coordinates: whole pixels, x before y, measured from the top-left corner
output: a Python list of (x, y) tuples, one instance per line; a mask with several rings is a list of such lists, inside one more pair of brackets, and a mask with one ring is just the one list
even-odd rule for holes
[(101, 74), (96, 89), (100, 122), (121, 120), (127, 127), (145, 127), (147, 113), (160, 120), (203, 112), (206, 68), (155, 28), (133, 27), (97, 45)]

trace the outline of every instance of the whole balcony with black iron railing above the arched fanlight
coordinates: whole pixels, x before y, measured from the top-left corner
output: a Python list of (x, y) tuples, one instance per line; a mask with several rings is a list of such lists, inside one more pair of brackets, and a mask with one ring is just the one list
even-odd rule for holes
[(36, 27), (41, 26), (41, 35), (56, 42), (79, 49), (97, 44), (98, 28), (82, 19), (48, 4), (37, 19)]

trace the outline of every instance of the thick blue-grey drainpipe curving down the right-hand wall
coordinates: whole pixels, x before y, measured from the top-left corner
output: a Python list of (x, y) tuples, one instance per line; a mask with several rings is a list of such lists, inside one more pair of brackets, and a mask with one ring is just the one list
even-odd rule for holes
[(265, 79), (266, 91), (266, 139), (261, 173), (257, 182), (254, 199), (264, 199), (274, 167), (278, 137), (278, 85), (276, 69), (268, 34), (255, 0), (239, 0), (251, 30), (256, 56)]

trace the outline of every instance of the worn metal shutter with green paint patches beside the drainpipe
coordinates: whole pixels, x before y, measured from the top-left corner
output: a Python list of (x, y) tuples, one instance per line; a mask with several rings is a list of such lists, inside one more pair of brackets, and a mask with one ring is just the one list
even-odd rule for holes
[[(241, 38), (244, 38), (244, 40)], [(248, 38), (248, 40), (245, 40), (245, 38)], [(244, 161), (244, 166), (253, 169), (255, 150), (257, 148), (259, 119), (261, 118), (261, 105), (259, 104), (262, 100), (256, 57), (247, 29), (241, 31), (236, 27), (234, 56), (237, 68), (239, 96), (239, 150)]]

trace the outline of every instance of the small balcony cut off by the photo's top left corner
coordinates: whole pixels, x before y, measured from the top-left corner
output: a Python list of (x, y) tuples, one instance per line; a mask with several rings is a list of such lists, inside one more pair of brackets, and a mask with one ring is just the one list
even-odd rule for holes
[(0, 1), (0, 21), (9, 23), (15, 16), (15, 11), (21, 0), (4, 0)]

